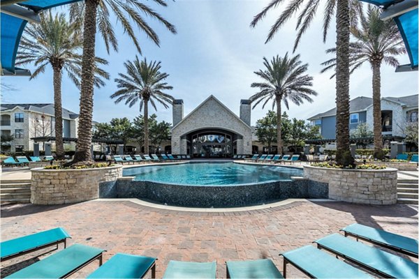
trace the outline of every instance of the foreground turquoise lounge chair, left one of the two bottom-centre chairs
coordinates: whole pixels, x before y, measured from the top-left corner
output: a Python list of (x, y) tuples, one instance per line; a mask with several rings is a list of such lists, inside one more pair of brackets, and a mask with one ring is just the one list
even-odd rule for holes
[(216, 262), (170, 261), (163, 278), (216, 278)]

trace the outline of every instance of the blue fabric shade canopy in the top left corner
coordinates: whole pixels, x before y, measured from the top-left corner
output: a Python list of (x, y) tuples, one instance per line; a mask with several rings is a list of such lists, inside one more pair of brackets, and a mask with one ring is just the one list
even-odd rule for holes
[(39, 22), (41, 10), (80, 0), (0, 0), (1, 4), (1, 75), (30, 75), (29, 70), (15, 67), (17, 48), (28, 21)]

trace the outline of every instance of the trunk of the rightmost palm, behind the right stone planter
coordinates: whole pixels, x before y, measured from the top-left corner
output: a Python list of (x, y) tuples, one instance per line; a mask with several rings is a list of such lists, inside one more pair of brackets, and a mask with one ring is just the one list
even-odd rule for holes
[(383, 159), (381, 127), (381, 61), (372, 62), (372, 107), (374, 118), (374, 158)]

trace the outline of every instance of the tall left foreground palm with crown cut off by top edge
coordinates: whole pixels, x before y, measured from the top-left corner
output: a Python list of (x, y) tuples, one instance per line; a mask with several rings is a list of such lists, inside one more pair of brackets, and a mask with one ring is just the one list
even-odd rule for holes
[[(154, 0), (160, 6), (167, 6), (166, 0)], [(96, 27), (101, 33), (105, 47), (109, 52), (110, 45), (117, 50), (117, 38), (110, 22), (110, 13), (113, 12), (118, 22), (121, 22), (125, 33), (133, 40), (138, 52), (141, 53), (140, 44), (135, 36), (134, 23), (136, 27), (146, 33), (156, 45), (159, 45), (159, 36), (147, 24), (143, 13), (152, 19), (161, 22), (169, 31), (176, 33), (175, 27), (167, 22), (159, 13), (145, 5), (139, 0), (85, 0), (75, 4), (71, 8), (71, 17), (78, 17), (83, 22), (83, 56), (82, 56), (82, 84), (80, 90), (80, 118), (79, 123), (83, 129), (78, 130), (78, 144), (73, 164), (90, 163), (91, 154), (91, 128), (93, 114), (93, 68), (91, 62), (95, 56)], [(140, 13), (139, 13), (140, 12)]]

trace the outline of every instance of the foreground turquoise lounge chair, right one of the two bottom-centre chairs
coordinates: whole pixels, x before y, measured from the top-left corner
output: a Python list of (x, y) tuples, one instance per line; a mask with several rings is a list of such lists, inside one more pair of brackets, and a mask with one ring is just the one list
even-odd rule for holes
[(284, 278), (270, 259), (226, 262), (227, 278)]

